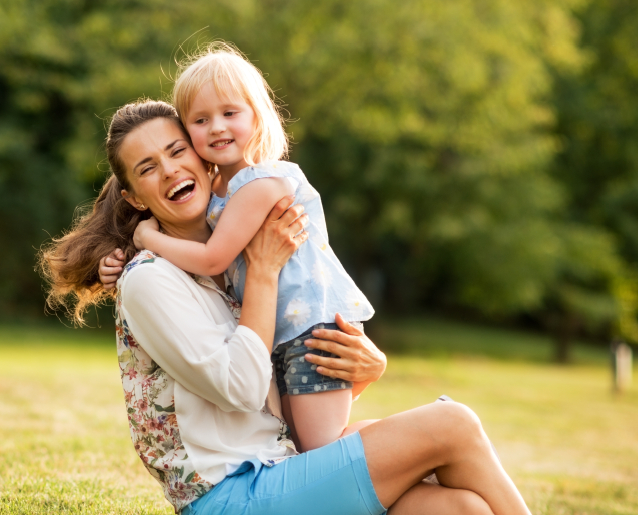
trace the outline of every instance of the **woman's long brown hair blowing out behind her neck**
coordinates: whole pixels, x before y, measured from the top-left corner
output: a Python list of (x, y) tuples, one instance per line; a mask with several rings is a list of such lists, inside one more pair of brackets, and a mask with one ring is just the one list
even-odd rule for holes
[(125, 262), (130, 261), (137, 252), (133, 244), (135, 228), (151, 216), (149, 210), (139, 211), (122, 197), (122, 190), (131, 193), (132, 188), (120, 150), (126, 136), (156, 118), (174, 121), (186, 135), (175, 108), (165, 102), (144, 100), (118, 109), (106, 137), (110, 177), (92, 208), (79, 212), (71, 230), (53, 238), (38, 254), (38, 268), (50, 286), (47, 306), (66, 309), (78, 325), (84, 323), (89, 306), (115, 294), (115, 290), (104, 290), (100, 282), (100, 259), (120, 248)]

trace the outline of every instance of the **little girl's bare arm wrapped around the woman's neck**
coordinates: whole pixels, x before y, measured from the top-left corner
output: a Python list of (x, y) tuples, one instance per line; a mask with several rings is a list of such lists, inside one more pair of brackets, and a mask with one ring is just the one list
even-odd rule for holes
[(277, 201), (292, 193), (286, 179), (256, 179), (240, 188), (228, 201), (207, 243), (172, 238), (145, 221), (135, 231), (135, 244), (187, 272), (221, 274), (257, 234)]

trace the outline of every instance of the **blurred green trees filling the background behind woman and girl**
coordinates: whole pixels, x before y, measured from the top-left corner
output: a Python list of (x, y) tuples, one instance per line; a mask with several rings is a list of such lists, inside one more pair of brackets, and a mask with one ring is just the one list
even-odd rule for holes
[(101, 185), (104, 118), (142, 95), (167, 96), (180, 44), (223, 38), (287, 105), (291, 158), (378, 307), (468, 306), (592, 326), (635, 312), (617, 287), (638, 253), (627, 50), (638, 20), (623, 16), (626, 2), (5, 4), (5, 310), (41, 305), (33, 247)]

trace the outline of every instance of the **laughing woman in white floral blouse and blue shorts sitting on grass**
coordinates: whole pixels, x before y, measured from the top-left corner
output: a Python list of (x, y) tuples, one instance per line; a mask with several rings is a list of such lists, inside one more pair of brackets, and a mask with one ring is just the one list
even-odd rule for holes
[[(147, 101), (121, 108), (107, 154), (113, 176), (93, 212), (43, 255), (51, 298), (74, 293), (76, 315), (104, 295), (99, 258), (119, 247), (131, 260), (133, 230), (149, 211), (171, 236), (209, 237), (210, 179), (171, 106)], [(185, 180), (192, 182), (185, 194), (169, 200), (167, 192)], [(118, 355), (131, 435), (176, 511), (529, 514), (478, 418), (458, 403), (362, 424), (337, 442), (296, 454), (270, 394), (277, 278), (305, 239), (304, 216), (297, 206), (282, 215), (285, 207), (275, 208), (245, 250), (241, 313), (223, 277), (189, 276), (149, 252), (133, 258), (118, 282)], [(328, 341), (315, 345), (333, 351), (339, 343), (365, 342), (339, 324), (347, 335), (320, 331), (315, 336)], [(377, 377), (354, 378), (355, 393)], [(445, 486), (422, 481), (434, 470)]]

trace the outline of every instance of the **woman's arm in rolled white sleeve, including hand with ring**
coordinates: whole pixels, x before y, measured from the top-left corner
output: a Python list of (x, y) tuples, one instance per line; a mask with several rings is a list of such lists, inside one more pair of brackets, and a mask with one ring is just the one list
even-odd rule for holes
[(307, 239), (303, 207), (284, 213), (291, 201), (277, 204), (248, 245), (248, 305), (228, 340), (202, 311), (198, 287), (166, 261), (136, 267), (122, 284), (122, 310), (138, 343), (185, 388), (225, 411), (261, 409), (268, 392), (275, 320), (268, 305), (276, 304), (279, 270)]

